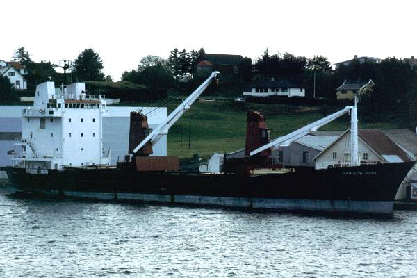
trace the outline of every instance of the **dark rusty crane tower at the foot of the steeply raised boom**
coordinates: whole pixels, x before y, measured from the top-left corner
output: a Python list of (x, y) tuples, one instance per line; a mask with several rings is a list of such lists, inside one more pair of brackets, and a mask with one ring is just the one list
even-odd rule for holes
[(133, 153), (133, 149), (139, 145), (142, 140), (146, 138), (149, 134), (149, 125), (147, 122), (147, 116), (133, 111), (130, 114), (130, 129), (129, 129), (129, 154), (133, 154), (133, 156), (149, 156), (149, 154), (153, 153), (152, 150), (152, 142), (149, 141), (138, 150), (138, 152)]

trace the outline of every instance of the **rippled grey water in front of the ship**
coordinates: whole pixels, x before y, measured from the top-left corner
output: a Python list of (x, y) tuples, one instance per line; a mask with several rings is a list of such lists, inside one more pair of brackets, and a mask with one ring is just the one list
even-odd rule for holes
[(0, 187), (0, 277), (417, 277), (417, 211), (352, 219), (10, 192)]

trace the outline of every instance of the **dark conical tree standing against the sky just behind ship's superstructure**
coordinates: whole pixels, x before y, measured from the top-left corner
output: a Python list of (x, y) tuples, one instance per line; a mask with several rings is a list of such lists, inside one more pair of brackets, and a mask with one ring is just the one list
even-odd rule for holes
[(103, 81), (103, 68), (99, 54), (88, 48), (74, 60), (72, 73), (79, 81)]

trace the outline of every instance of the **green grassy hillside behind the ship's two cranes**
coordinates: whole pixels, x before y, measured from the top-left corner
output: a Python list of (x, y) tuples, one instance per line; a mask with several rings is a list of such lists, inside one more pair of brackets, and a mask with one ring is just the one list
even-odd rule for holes
[[(166, 101), (124, 104), (129, 106), (161, 106)], [(165, 105), (170, 113), (180, 101)], [(267, 117), (272, 138), (285, 135), (322, 117), (317, 109), (279, 104), (246, 104), (235, 101), (197, 101), (181, 119), (172, 126), (168, 134), (168, 154), (180, 158), (211, 156), (213, 152), (233, 152), (245, 147), (247, 108), (262, 111)], [(311, 112), (313, 111), (313, 112)], [(345, 115), (327, 126), (324, 131), (343, 131), (350, 126), (350, 116)], [(393, 129), (397, 126), (386, 122), (363, 123), (363, 129)]]

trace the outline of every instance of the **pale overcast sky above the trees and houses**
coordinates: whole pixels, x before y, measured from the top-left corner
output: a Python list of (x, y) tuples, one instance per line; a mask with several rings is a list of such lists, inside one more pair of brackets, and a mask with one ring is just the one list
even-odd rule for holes
[(414, 1), (1, 1), (0, 59), (74, 60), (92, 47), (115, 81), (147, 54), (199, 49), (255, 59), (270, 54), (417, 56)]

